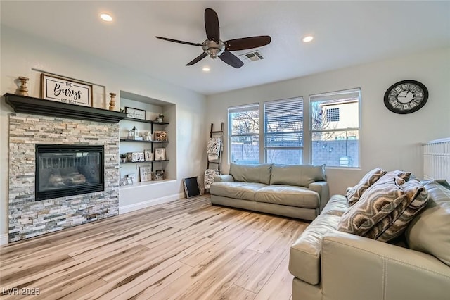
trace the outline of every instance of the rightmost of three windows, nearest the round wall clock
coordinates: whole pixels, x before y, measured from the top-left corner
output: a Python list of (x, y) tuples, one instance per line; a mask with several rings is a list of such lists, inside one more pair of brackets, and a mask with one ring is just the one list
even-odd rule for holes
[(309, 97), (312, 164), (359, 168), (360, 101), (360, 89)]

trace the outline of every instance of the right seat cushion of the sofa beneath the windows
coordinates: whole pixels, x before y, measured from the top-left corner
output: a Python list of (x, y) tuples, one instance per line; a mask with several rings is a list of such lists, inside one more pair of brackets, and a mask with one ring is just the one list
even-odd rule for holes
[(255, 192), (255, 201), (302, 208), (319, 208), (320, 204), (317, 192), (311, 191), (307, 187), (294, 185), (268, 185), (262, 187)]

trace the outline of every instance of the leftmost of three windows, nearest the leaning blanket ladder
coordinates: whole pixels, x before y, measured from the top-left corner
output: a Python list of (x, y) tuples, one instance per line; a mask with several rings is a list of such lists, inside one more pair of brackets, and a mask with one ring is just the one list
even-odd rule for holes
[(259, 104), (228, 109), (232, 163), (259, 163)]

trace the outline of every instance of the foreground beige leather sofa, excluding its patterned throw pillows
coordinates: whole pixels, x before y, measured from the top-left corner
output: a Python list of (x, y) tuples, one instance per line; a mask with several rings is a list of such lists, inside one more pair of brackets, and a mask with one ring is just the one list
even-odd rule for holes
[(290, 248), (293, 299), (450, 299), (450, 189), (425, 188), (430, 200), (397, 244), (336, 230), (349, 206), (332, 196)]

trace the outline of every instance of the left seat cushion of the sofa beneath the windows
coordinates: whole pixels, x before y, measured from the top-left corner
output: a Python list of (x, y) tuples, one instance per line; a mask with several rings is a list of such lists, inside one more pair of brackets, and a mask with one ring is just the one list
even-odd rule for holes
[(255, 191), (266, 187), (264, 183), (257, 182), (214, 182), (210, 193), (228, 198), (255, 201)]

